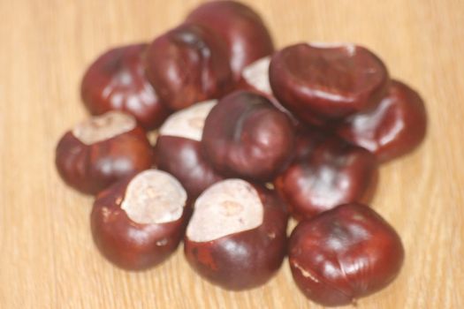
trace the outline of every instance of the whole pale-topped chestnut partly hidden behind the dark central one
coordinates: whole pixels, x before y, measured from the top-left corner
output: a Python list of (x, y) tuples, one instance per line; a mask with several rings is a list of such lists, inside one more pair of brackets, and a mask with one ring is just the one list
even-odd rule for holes
[(206, 160), (201, 139), (205, 118), (217, 101), (199, 102), (172, 114), (159, 130), (156, 165), (179, 179), (191, 199), (223, 177)]

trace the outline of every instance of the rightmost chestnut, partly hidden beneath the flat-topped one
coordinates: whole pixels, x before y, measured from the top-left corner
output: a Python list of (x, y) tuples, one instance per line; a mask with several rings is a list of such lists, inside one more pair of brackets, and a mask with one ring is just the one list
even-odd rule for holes
[(348, 117), (338, 125), (342, 138), (364, 147), (386, 162), (415, 149), (425, 137), (427, 115), (415, 90), (392, 80), (380, 104)]

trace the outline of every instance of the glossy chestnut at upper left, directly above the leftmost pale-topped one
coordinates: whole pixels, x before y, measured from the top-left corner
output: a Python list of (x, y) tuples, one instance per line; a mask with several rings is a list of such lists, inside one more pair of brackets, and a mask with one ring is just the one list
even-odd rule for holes
[(157, 128), (169, 115), (145, 77), (147, 44), (110, 49), (90, 65), (80, 94), (92, 115), (118, 109), (130, 113), (146, 130)]

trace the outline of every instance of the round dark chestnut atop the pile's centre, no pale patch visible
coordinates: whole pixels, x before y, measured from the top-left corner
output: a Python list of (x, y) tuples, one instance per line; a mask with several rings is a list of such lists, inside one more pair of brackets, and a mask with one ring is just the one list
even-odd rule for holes
[(291, 160), (293, 135), (290, 118), (268, 99), (237, 91), (209, 112), (202, 147), (223, 175), (266, 181)]

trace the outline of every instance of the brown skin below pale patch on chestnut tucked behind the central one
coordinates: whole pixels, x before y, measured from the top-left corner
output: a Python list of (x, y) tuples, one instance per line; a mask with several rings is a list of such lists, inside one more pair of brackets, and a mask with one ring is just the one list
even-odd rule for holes
[(156, 141), (155, 157), (157, 168), (176, 177), (191, 199), (224, 179), (205, 159), (197, 140), (161, 135)]

